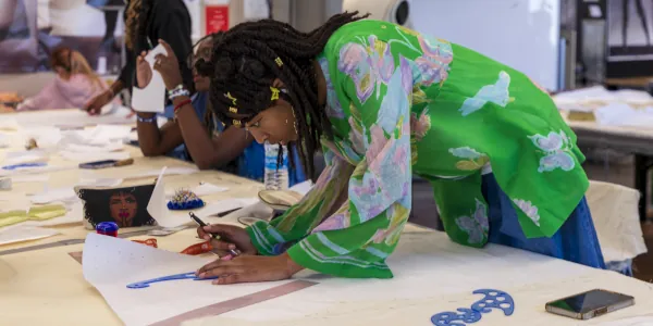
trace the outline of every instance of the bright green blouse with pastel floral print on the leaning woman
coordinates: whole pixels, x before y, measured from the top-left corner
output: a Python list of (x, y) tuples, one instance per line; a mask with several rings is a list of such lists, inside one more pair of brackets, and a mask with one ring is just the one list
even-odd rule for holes
[(318, 60), (335, 139), (322, 141), (326, 168), (306, 198), (248, 228), (261, 254), (287, 248), (321, 273), (392, 277), (385, 259), (408, 220), (414, 174), (432, 183), (449, 238), (472, 247), (488, 241), (483, 173), (528, 238), (554, 235), (589, 186), (574, 133), (518, 71), (369, 20), (336, 30)]

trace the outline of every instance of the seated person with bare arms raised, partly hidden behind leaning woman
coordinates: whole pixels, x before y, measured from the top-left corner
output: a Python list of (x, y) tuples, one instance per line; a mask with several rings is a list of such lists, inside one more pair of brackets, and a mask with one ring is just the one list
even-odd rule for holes
[[(137, 113), (138, 143), (146, 156), (164, 155), (181, 147), (183, 156), (180, 159), (188, 155), (201, 170), (220, 167), (225, 172), (262, 181), (266, 155), (263, 146), (254, 141), (254, 137), (245, 129), (225, 128), (221, 122), (215, 121), (211, 111), (207, 110), (210, 79), (198, 74), (195, 65), (197, 59), (210, 62), (213, 40), (219, 37), (219, 34), (212, 34), (200, 39), (194, 47), (196, 50), (188, 55), (187, 64), (193, 71), (197, 90), (197, 93), (190, 97), (192, 105), (178, 108), (174, 113), (175, 118), (160, 129), (155, 113)], [(172, 54), (158, 57), (155, 68), (161, 73), (163, 80), (178, 85), (182, 80), (178, 60), (168, 43), (164, 41), (161, 43), (168, 53)], [(146, 54), (146, 52), (140, 53), (136, 60), (136, 77), (139, 87), (145, 87), (151, 78), (152, 72), (144, 60)], [(297, 160), (291, 165), (288, 176), (291, 186), (306, 179)]]

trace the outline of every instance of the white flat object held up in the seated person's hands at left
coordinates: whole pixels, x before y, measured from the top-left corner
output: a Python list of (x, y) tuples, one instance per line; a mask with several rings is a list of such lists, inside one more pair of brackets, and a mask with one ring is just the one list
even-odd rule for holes
[(158, 45), (145, 57), (152, 71), (150, 83), (144, 88), (132, 88), (132, 108), (135, 111), (163, 113), (165, 106), (165, 84), (161, 74), (153, 68), (155, 57), (157, 54), (168, 55), (168, 52), (165, 52), (163, 46)]

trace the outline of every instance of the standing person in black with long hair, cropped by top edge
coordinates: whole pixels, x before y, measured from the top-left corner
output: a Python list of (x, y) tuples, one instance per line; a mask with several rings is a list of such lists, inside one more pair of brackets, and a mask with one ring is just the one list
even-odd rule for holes
[[(190, 14), (182, 0), (130, 0), (124, 13), (125, 47), (127, 61), (119, 79), (107, 91), (90, 98), (84, 105), (89, 114), (98, 114), (121, 90), (132, 89), (135, 78), (136, 58), (143, 51), (153, 49), (163, 39), (175, 58), (185, 58), (192, 51)], [(178, 63), (183, 84), (193, 91), (193, 74)], [(162, 95), (163, 96), (163, 95)]]

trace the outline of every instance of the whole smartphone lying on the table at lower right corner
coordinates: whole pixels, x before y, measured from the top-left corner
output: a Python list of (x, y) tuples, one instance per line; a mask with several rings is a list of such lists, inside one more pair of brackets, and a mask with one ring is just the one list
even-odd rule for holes
[(590, 319), (634, 304), (634, 298), (594, 289), (546, 303), (546, 311), (575, 319)]

